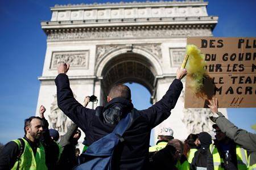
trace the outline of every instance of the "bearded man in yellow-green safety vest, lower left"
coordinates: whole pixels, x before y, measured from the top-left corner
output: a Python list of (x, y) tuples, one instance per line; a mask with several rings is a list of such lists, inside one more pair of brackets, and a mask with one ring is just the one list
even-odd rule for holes
[(40, 117), (24, 121), (25, 135), (5, 145), (0, 153), (0, 169), (47, 169), (46, 156), (39, 138), (43, 132)]

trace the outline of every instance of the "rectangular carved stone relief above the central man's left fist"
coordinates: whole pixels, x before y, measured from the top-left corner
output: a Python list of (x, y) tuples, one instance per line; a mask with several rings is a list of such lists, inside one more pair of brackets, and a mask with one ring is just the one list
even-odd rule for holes
[(88, 69), (89, 51), (53, 52), (50, 69), (55, 69), (60, 62), (69, 63), (72, 67)]

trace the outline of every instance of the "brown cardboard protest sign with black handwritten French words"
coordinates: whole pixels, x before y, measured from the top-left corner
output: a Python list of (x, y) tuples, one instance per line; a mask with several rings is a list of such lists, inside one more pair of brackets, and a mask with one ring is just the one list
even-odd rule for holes
[(208, 76), (203, 80), (206, 96), (189, 90), (186, 79), (185, 108), (207, 108), (207, 98), (218, 98), (220, 108), (256, 107), (256, 37), (189, 37), (205, 54)]

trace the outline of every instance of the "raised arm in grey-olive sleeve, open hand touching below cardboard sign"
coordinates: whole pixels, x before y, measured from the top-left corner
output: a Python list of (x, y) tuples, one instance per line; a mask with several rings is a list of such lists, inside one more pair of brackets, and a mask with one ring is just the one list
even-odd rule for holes
[(241, 145), (242, 148), (255, 152), (256, 134), (237, 128), (237, 126), (226, 119), (221, 112), (218, 112), (218, 100), (216, 98), (210, 100), (209, 103), (208, 107), (213, 113), (213, 116), (210, 116), (210, 120), (216, 123), (223, 133), (225, 133), (230, 139), (233, 139), (235, 143)]

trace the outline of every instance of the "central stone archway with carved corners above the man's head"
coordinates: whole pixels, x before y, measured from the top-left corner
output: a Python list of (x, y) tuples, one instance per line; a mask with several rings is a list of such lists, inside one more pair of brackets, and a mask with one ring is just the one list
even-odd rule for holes
[(152, 103), (156, 93), (156, 77), (162, 74), (158, 44), (98, 46), (97, 55), (96, 74), (101, 77), (101, 104), (105, 104), (113, 84), (126, 82), (135, 82), (146, 87), (151, 94)]

